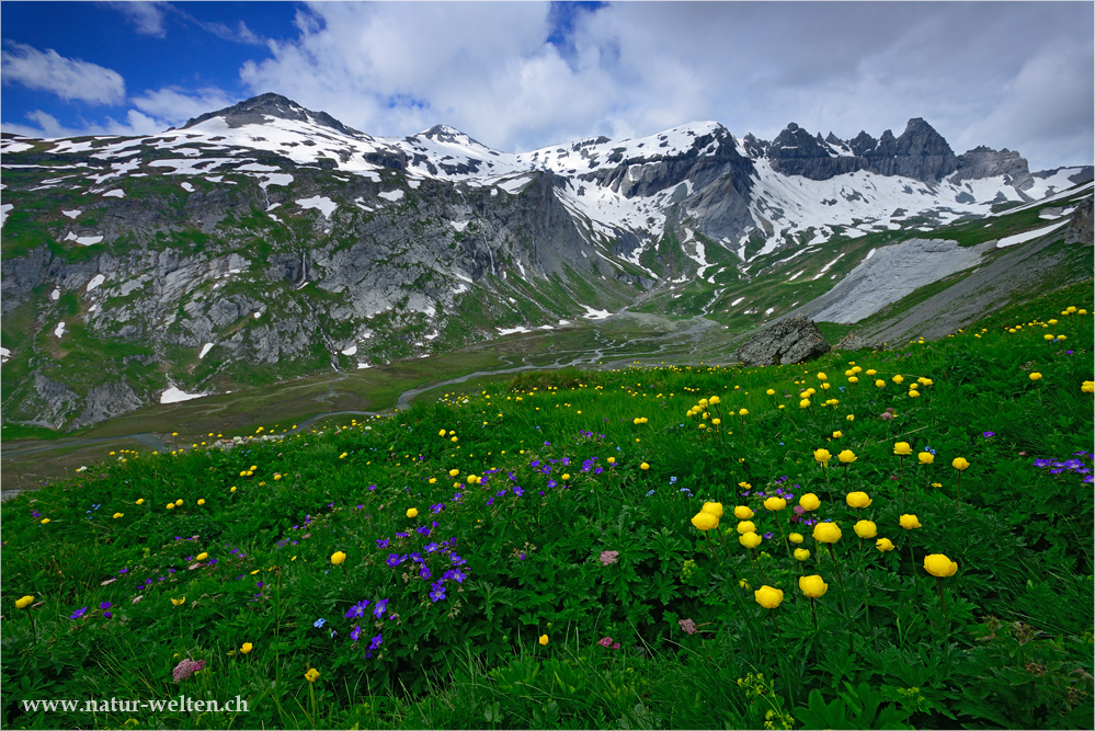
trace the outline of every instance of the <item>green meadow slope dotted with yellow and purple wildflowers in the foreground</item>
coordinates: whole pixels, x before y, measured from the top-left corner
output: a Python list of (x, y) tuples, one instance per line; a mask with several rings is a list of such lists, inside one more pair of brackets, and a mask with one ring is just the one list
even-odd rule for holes
[(1093, 309), (115, 450), (2, 505), (3, 723), (1095, 728)]

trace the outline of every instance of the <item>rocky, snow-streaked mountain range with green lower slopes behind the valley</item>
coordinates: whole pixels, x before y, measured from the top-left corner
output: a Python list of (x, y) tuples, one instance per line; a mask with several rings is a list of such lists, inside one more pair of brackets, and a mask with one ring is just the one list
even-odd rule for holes
[[(277, 94), (147, 137), (4, 134), (0, 152), (3, 420), (50, 429), (625, 308), (860, 322), (993, 252), (1083, 242), (1092, 181), (956, 155), (919, 118), (877, 139), (699, 122), (509, 153), (447, 126), (372, 137)], [(1035, 243), (986, 238), (1015, 227)], [(1075, 269), (1047, 251), (1047, 277)]]

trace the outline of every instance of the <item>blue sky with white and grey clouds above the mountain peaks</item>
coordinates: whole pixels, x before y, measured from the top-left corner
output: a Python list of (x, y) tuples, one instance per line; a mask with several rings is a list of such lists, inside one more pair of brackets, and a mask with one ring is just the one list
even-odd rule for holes
[(273, 91), (372, 135), (500, 150), (714, 119), (1093, 162), (1090, 2), (0, 3), (0, 123), (151, 134)]

